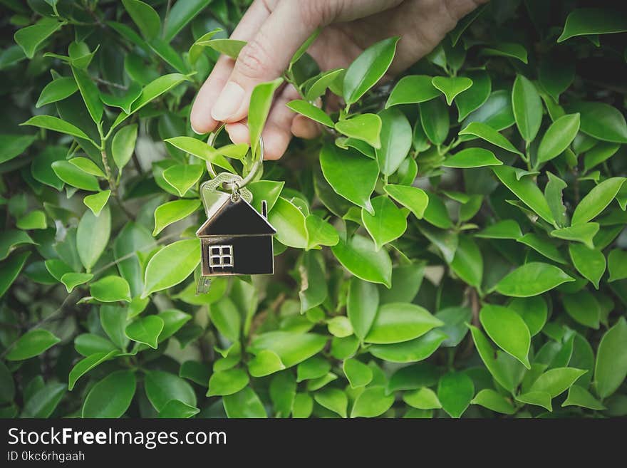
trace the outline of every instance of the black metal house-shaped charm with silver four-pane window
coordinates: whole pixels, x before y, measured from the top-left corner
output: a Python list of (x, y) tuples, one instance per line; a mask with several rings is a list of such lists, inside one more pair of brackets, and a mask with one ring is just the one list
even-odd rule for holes
[(202, 276), (274, 273), (272, 236), (267, 204), (257, 212), (242, 197), (223, 193), (207, 210), (207, 221), (196, 235), (201, 241)]

